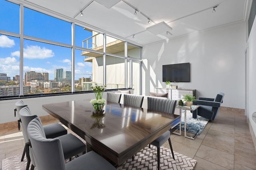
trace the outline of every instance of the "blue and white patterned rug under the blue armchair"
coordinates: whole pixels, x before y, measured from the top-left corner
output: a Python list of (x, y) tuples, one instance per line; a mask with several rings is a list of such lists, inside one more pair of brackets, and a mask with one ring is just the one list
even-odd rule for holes
[[(197, 118), (192, 117), (192, 113), (187, 110), (187, 115), (186, 115), (186, 123), (187, 123), (187, 132), (193, 133), (197, 135), (200, 135), (204, 127), (207, 125), (209, 119), (206, 119), (202, 116), (197, 116)], [(180, 125), (177, 125), (174, 127), (175, 129), (179, 129)], [(184, 131), (184, 110), (182, 110), (181, 114), (181, 130)]]

